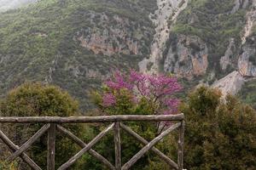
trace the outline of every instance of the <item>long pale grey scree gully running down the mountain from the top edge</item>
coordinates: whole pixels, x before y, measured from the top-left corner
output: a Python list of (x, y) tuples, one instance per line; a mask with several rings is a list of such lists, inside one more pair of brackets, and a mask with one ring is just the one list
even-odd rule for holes
[[(171, 33), (169, 22), (177, 20), (178, 14), (187, 7), (188, 2), (188, 0), (157, 0), (158, 9), (149, 16), (156, 26), (151, 54), (149, 59), (145, 58), (139, 63), (140, 71), (159, 71), (159, 62), (163, 57), (163, 51)], [(148, 65), (150, 65), (150, 68), (148, 68)]]

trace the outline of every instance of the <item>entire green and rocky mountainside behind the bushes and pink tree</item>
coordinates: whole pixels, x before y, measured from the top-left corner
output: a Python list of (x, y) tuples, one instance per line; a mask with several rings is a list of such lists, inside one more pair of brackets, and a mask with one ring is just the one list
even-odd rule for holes
[[(173, 73), (190, 88), (215, 82), (236, 94), (245, 82), (243, 89), (255, 84), (255, 4), (42, 0), (3, 13), (0, 93), (21, 82), (43, 81), (67, 89), (88, 108), (90, 90), (110, 70), (135, 68)], [(232, 89), (225, 86), (229, 78)], [(256, 103), (254, 95), (249, 98), (248, 103)]]

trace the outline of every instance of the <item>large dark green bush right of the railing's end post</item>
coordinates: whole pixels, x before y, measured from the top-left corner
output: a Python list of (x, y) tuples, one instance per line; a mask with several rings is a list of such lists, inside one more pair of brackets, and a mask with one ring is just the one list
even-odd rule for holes
[(253, 169), (256, 166), (256, 112), (217, 90), (198, 88), (181, 110), (186, 116), (184, 167)]

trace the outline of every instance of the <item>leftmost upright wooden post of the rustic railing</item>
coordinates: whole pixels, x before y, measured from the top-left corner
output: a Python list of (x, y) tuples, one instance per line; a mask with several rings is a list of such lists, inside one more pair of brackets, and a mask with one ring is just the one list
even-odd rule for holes
[(56, 125), (50, 124), (48, 131), (48, 156), (47, 156), (47, 170), (55, 170), (55, 133)]

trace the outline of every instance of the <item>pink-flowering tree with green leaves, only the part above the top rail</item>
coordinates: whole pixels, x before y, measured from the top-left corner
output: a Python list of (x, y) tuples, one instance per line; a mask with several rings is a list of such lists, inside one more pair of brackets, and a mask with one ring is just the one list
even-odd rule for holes
[(174, 94), (182, 89), (176, 77), (115, 71), (104, 82), (96, 104), (108, 114), (176, 114), (179, 100)]

